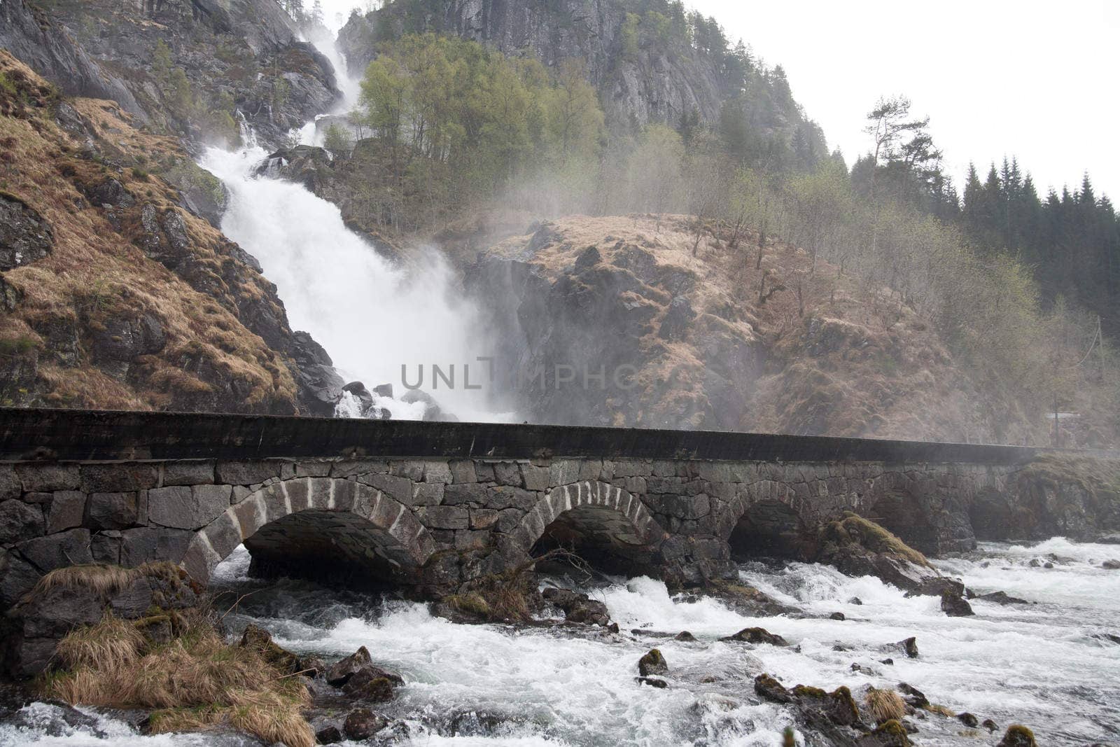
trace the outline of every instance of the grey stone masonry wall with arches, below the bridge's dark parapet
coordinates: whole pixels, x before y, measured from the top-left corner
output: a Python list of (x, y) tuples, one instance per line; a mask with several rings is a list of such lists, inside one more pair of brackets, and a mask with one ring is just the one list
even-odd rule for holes
[[(0, 463), (0, 607), (52, 569), (181, 563), (205, 583), (254, 554), (364, 562), (383, 582), (458, 585), (524, 560), (558, 519), (643, 550), (678, 582), (721, 572), (752, 506), (806, 532), (855, 511), (927, 552), (974, 545), (969, 506), (1010, 466), (657, 459), (255, 459)], [(296, 519), (293, 519), (296, 517)], [(738, 550), (744, 550), (738, 548)]]

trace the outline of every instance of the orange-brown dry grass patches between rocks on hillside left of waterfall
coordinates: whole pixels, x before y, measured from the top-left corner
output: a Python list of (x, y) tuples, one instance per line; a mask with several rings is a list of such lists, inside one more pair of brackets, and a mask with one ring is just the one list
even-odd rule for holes
[[(0, 50), (0, 73), (39, 82), (22, 63)], [(97, 148), (105, 160), (80, 157), (82, 142), (62, 130), (49, 108), (29, 109), (19, 116), (0, 112), (0, 131), (10, 134), (13, 166), (0, 170), (0, 189), (37, 211), (53, 227), (54, 252), (29, 265), (4, 273), (4, 281), (22, 292), (15, 310), (0, 310), (0, 343), (27, 345), (38, 356), (34, 391), (21, 404), (66, 407), (205, 409), (214, 394), (196, 375), (169, 371), (194, 366), (237, 380), (248, 391), (244, 410), (293, 411), (296, 383), (283, 357), (270, 349), (239, 320), (239, 299), (264, 299), (268, 281), (242, 272), (242, 282), (227, 278), (228, 242), (205, 221), (178, 207), (174, 188), (157, 176), (160, 165), (189, 161), (171, 138), (141, 132), (128, 114), (111, 102), (69, 102), (99, 133)], [(118, 169), (115, 164), (121, 165)], [(133, 168), (134, 167), (134, 168)], [(151, 169), (149, 175), (147, 171)], [(134, 196), (132, 207), (116, 208), (120, 231), (100, 206), (84, 198), (81, 187), (115, 178)], [(148, 259), (134, 241), (141, 234), (139, 215), (149, 203), (159, 214), (177, 212), (192, 240), (192, 281)], [(194, 286), (194, 287), (193, 287)], [(202, 292), (195, 288), (213, 289)], [(282, 316), (282, 309), (273, 309)], [(146, 356), (128, 381), (119, 381), (94, 366), (88, 355), (90, 335), (109, 318), (137, 318), (148, 314), (164, 328), (167, 344)], [(66, 321), (68, 320), (68, 321)], [(44, 329), (48, 325), (74, 328), (81, 356), (77, 366), (59, 365), (49, 355)], [(196, 345), (187, 358), (186, 343)], [(213, 407), (213, 405), (212, 405)]]

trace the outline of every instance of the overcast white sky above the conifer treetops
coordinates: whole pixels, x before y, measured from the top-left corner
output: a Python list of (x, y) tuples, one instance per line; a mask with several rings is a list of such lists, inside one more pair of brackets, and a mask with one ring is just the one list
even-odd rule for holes
[[(516, 1), (516, 0), (513, 0)], [(328, 16), (355, 0), (324, 0)], [(931, 116), (958, 187), (969, 161), (1018, 156), (1045, 196), (1081, 184), (1120, 202), (1120, 0), (685, 0), (767, 64), (849, 164), (865, 115), (903, 93)], [(330, 19), (333, 20), (333, 19)]]

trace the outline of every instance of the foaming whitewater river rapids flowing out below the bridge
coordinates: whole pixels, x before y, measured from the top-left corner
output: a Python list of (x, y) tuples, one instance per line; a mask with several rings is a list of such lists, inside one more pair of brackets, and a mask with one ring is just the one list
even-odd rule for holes
[[(433, 617), (421, 604), (281, 581), (246, 597), (233, 625), (254, 622), (281, 645), (324, 656), (366, 646), (407, 682), (382, 709), (396, 720), (392, 744), (400, 745), (776, 746), (782, 730), (794, 726), (793, 715), (757, 702), (753, 679), (763, 671), (788, 687), (848, 685), (857, 699), (866, 684), (908, 682), (934, 703), (999, 725), (991, 735), (970, 732), (955, 719), (928, 715), (913, 719), (917, 745), (995, 745), (1015, 722), (1032, 727), (1042, 745), (1114, 744), (1120, 645), (1102, 636), (1120, 632), (1120, 573), (1101, 569), (1108, 559), (1120, 559), (1120, 547), (1054, 539), (1029, 547), (986, 543), (939, 561), (978, 592), (998, 589), (1036, 603), (973, 600), (971, 618), (946, 617), (937, 598), (907, 599), (875, 578), (809, 563), (753, 562), (740, 566), (744, 582), (816, 617), (746, 617), (712, 598), (670, 596), (648, 578), (617, 579), (586, 589), (618, 622), (622, 634), (613, 636), (595, 628), (461, 625)], [(1046, 561), (1054, 568), (1044, 568)], [(253, 583), (244, 580), (246, 569), (248, 553), (235, 552), (215, 582), (232, 589)], [(861, 605), (851, 601), (856, 597)], [(834, 611), (848, 619), (828, 619)], [(753, 625), (793, 645), (752, 648), (717, 639)], [(659, 635), (680, 631), (698, 641)], [(918, 659), (880, 650), (911, 635), (917, 636)], [(848, 650), (836, 651), (837, 644)], [(669, 662), (665, 690), (634, 682), (638, 657), (653, 646)], [(886, 656), (893, 665), (880, 663)], [(853, 672), (852, 663), (869, 671)], [(205, 744), (197, 735), (139, 737), (123, 725), (113, 728), (99, 737), (88, 729), (46, 736), (0, 727), (0, 746)]]

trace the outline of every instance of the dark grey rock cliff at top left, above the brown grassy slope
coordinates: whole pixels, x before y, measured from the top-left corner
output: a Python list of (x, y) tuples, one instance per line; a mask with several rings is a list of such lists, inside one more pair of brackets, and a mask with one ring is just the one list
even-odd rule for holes
[(49, 20), (15, 0), (3, 12), (19, 24), (0, 45), (37, 73), (193, 143), (235, 141), (243, 116), (279, 144), (338, 95), (330, 63), (274, 0), (54, 0)]

